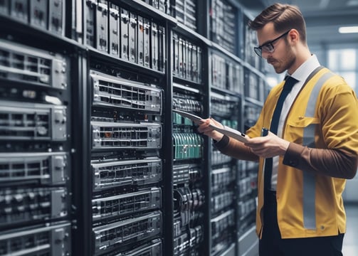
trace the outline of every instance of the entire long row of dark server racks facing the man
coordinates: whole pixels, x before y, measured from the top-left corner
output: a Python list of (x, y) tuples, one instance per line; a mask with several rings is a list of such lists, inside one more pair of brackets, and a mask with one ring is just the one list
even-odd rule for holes
[(256, 166), (172, 114), (255, 120), (265, 75), (238, 2), (1, 1), (0, 20), (0, 255), (255, 250)]

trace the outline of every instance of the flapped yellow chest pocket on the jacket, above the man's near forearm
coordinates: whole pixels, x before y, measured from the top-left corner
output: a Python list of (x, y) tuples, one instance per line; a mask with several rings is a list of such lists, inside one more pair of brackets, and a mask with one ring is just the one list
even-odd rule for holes
[(320, 124), (317, 117), (298, 117), (287, 122), (285, 137), (291, 142), (312, 146), (315, 142), (315, 127)]

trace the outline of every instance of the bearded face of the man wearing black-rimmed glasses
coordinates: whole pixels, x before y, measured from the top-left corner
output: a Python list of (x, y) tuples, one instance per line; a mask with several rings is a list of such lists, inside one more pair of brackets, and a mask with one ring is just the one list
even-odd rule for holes
[(287, 32), (277, 33), (273, 28), (273, 23), (268, 23), (257, 31), (262, 58), (273, 65), (278, 74), (288, 70), (296, 60), (295, 53), (288, 43), (289, 35)]

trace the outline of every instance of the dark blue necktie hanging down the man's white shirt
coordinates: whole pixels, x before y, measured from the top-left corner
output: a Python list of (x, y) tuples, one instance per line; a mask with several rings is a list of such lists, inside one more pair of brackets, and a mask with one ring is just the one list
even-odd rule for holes
[[(283, 102), (285, 102), (288, 93), (292, 90), (292, 87), (293, 85), (295, 85), (296, 82), (298, 82), (298, 80), (295, 80), (295, 78), (288, 77), (285, 81), (285, 85), (283, 85), (283, 90), (280, 94), (280, 97), (278, 97), (278, 102), (276, 104), (275, 110), (273, 111), (273, 117), (271, 119), (270, 132), (274, 134), (277, 134), (278, 122), (280, 121), (280, 114), (282, 111)], [(264, 187), (267, 190), (271, 189), (272, 167), (273, 167), (273, 159), (272, 158), (265, 159)]]

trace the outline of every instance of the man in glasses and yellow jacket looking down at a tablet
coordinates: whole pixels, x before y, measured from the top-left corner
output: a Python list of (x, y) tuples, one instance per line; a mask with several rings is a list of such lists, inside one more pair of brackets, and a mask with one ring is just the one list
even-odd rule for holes
[(198, 131), (223, 154), (259, 161), (260, 256), (342, 255), (342, 192), (357, 171), (357, 96), (310, 53), (296, 6), (273, 4), (249, 26), (257, 32), (256, 54), (291, 78), (270, 91), (247, 143), (211, 129), (211, 122), (222, 125), (214, 119), (204, 119)]

